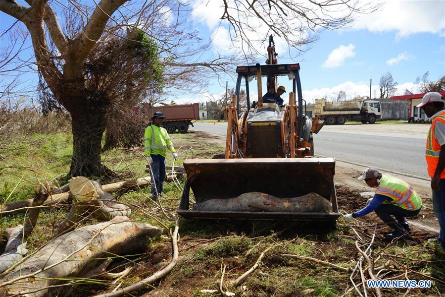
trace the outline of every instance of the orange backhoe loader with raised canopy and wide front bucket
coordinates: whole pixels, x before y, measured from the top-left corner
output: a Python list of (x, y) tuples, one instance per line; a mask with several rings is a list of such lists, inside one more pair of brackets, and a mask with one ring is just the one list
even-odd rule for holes
[[(269, 48), (268, 52), (268, 61), (276, 61)], [(298, 63), (237, 67), (235, 95), (226, 109), (224, 159), (184, 161), (187, 180), (177, 210), (179, 215), (194, 219), (330, 221), (335, 224), (340, 217), (334, 185), (335, 160), (314, 157), (312, 135), (322, 128), (323, 121), (303, 114), (305, 104), (299, 70)], [(277, 91), (278, 78), (290, 81), (289, 104), (263, 103), (262, 95), (266, 93), (262, 88), (263, 77), (267, 77), (267, 91)], [(244, 110), (240, 110), (238, 101), (242, 81), (246, 83), (247, 95)], [(251, 87), (249, 83), (255, 86)], [(255, 90), (257, 101), (250, 98)], [(191, 199), (191, 191), (195, 201)], [(211, 206), (212, 199), (224, 207), (221, 199), (229, 203), (231, 199), (243, 199), (248, 193), (253, 193), (250, 198), (273, 195), (284, 204), (292, 197), (306, 195), (307, 198), (314, 194), (332, 203), (332, 209), (328, 212), (289, 212), (263, 211), (255, 207), (247, 211), (202, 210), (198, 207), (203, 203)], [(273, 209), (274, 205), (270, 206)]]

